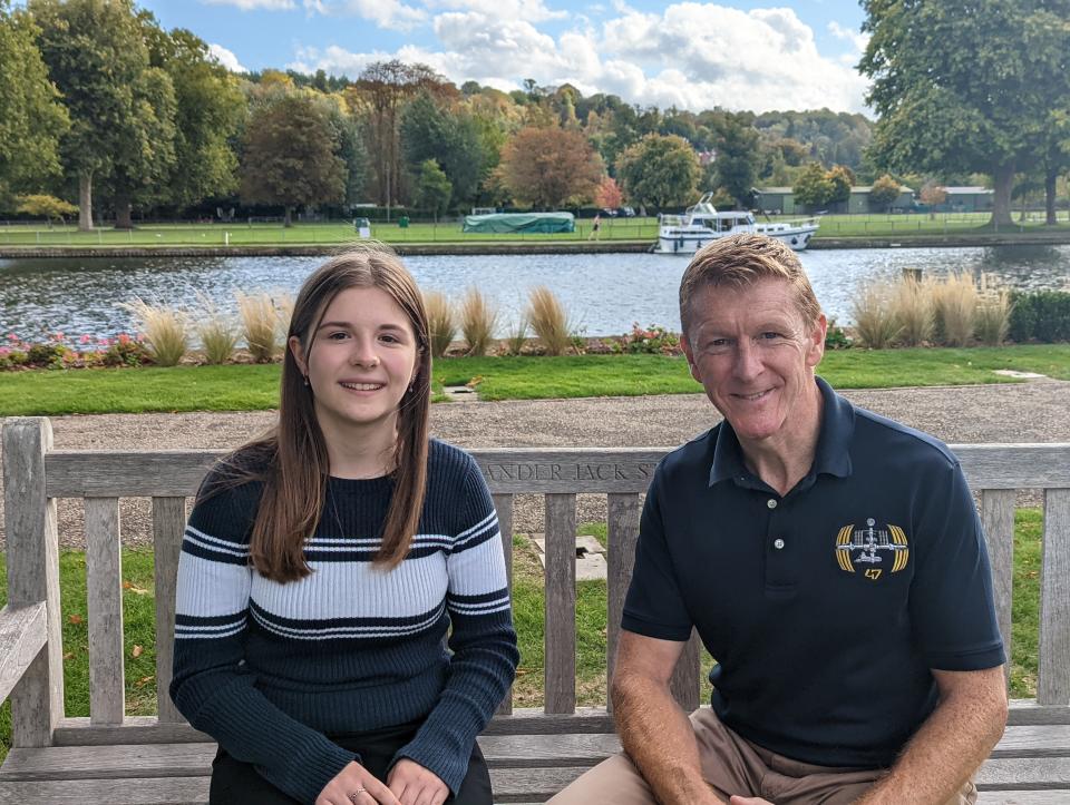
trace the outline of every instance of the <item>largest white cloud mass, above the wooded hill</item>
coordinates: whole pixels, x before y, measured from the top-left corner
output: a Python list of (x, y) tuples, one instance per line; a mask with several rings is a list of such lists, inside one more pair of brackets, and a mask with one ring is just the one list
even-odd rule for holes
[(567, 81), (584, 95), (613, 92), (661, 108), (865, 110), (865, 79), (842, 55), (819, 52), (814, 30), (787, 8), (746, 12), (680, 2), (643, 13), (613, 0), (616, 16), (604, 24), (574, 20), (571, 30), (554, 37), (524, 12), (541, 13), (543, 0), (494, 4), (508, 13), (485, 11), (492, 0), (425, 2), (464, 7), (435, 17), (435, 47), (405, 46), (393, 53), (304, 49), (290, 67), (353, 78), (371, 61), (399, 58), (429, 65), (457, 84), (476, 80), (509, 90), (526, 78), (542, 86)]

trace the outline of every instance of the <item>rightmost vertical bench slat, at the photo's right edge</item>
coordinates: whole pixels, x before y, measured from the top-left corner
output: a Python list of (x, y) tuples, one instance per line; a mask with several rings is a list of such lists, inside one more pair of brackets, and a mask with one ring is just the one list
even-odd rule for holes
[(1037, 701), (1066, 705), (1070, 704), (1070, 489), (1044, 492), (1043, 557)]

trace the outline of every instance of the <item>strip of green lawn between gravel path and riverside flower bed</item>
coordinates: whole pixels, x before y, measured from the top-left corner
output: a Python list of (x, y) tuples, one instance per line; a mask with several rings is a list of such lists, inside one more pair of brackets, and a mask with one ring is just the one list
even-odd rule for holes
[[(829, 351), (820, 374), (836, 389), (1011, 382), (995, 369), (1070, 380), (1070, 344)], [(0, 416), (72, 413), (260, 411), (278, 401), (278, 364), (159, 369), (35, 370), (4, 373)], [(441, 385), (471, 383), (481, 400), (687, 394), (700, 391), (682, 357), (564, 355), (453, 357), (435, 364)]]

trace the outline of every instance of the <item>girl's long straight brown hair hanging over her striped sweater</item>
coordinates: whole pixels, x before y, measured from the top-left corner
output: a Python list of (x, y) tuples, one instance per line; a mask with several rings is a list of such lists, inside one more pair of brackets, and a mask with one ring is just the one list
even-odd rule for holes
[[(424, 297), (392, 251), (381, 244), (360, 244), (332, 257), (305, 279), (293, 305), (286, 337), (298, 337), (308, 361), (328, 305), (339, 292), (353, 287), (388, 293), (406, 312), (416, 334), (417, 374), (398, 408), (393, 493), (376, 556), (376, 562), (389, 569), (397, 567), (409, 550), (427, 484), (431, 351)], [(255, 463), (266, 467), (262, 475), (257, 473), (264, 490), (250, 540), (253, 566), (275, 581), (304, 578), (311, 572), (304, 542), (322, 516), (330, 462), (315, 419), (312, 390), (304, 384), (289, 348), (282, 364), (279, 424), (234, 455), (259, 457), (263, 463)]]

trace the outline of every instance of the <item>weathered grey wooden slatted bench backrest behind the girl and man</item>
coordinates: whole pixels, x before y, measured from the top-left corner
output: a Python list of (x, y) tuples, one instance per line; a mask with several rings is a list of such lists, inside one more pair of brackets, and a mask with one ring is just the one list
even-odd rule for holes
[[(175, 573), (193, 495), (220, 451), (56, 451), (45, 419), (3, 428), (9, 607), (47, 602), (47, 645), (12, 693), (16, 746), (43, 746), (64, 717), (56, 500), (85, 501), (90, 725), (124, 724), (123, 580), (118, 499), (152, 499), (158, 725), (182, 724), (167, 696)], [(1070, 444), (953, 445), (974, 492), (992, 559), (1000, 627), (1010, 650), (1015, 490), (1044, 493), (1037, 703), (1070, 704)], [(576, 711), (576, 494), (607, 495), (607, 677), (639, 532), (640, 495), (665, 449), (471, 451), (494, 495), (503, 534), (513, 500), (545, 495), (544, 713)], [(507, 560), (512, 539), (503, 539)], [(507, 561), (507, 565), (510, 565)], [(512, 583), (512, 578), (510, 578)], [(699, 704), (699, 642), (673, 679), (681, 705)], [(1063, 708), (1064, 709), (1064, 708)], [(512, 711), (509, 700), (499, 713)], [(127, 719), (127, 724), (129, 724)], [(165, 733), (168, 730), (164, 730)]]

